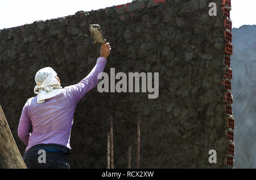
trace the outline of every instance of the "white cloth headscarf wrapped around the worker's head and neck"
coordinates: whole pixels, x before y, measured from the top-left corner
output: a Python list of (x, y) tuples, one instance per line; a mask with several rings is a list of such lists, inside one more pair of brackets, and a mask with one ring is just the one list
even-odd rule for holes
[(57, 73), (51, 67), (44, 67), (36, 72), (34, 93), (38, 95), (38, 104), (43, 103), (47, 98), (58, 95), (62, 87), (55, 78)]

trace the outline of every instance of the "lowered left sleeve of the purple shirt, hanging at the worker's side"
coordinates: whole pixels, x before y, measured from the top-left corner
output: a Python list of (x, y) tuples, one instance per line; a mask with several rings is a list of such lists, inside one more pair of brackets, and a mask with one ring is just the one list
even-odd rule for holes
[(31, 121), (28, 115), (28, 101), (22, 109), (22, 115), (19, 119), (18, 136), (25, 145), (28, 145), (28, 138), (30, 136)]

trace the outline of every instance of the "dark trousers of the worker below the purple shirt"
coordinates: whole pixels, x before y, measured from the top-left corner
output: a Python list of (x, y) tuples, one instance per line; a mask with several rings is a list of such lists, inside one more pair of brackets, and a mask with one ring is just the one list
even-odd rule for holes
[[(24, 153), (23, 160), (28, 169), (70, 169), (67, 155), (63, 152), (45, 151), (45, 160), (42, 162), (42, 154), (38, 151)], [(45, 163), (44, 163), (45, 162)]]

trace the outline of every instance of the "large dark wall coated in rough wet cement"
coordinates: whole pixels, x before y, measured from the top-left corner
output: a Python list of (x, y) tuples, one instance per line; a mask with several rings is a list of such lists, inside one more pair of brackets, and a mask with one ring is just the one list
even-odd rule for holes
[[(217, 3), (217, 16), (208, 15), (210, 2)], [(88, 32), (97, 23), (113, 48), (104, 71), (159, 72), (159, 97), (90, 91), (75, 112), (71, 167), (106, 168), (113, 115), (115, 168), (127, 168), (129, 145), (135, 168), (141, 113), (141, 168), (225, 168), (224, 19), (221, 1), (170, 0), (131, 16), (106, 8), (3, 29), (0, 102), (20, 151), (25, 147), (16, 130), (26, 100), (35, 96), (36, 71), (51, 66), (63, 87), (78, 83), (99, 56)], [(208, 162), (210, 149), (217, 164)]]

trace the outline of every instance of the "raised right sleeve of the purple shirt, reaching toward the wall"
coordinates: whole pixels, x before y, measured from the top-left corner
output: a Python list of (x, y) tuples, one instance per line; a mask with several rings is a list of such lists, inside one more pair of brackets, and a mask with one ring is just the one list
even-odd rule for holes
[(106, 58), (99, 57), (92, 71), (90, 71), (90, 73), (84, 79), (77, 84), (65, 87), (68, 95), (75, 101), (75, 103), (79, 102), (81, 98), (90, 91), (90, 89), (96, 87), (98, 84), (97, 76), (100, 74), (100, 72), (103, 72), (105, 65)]

